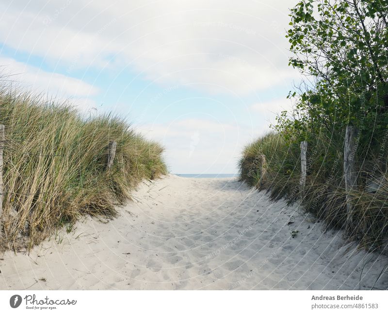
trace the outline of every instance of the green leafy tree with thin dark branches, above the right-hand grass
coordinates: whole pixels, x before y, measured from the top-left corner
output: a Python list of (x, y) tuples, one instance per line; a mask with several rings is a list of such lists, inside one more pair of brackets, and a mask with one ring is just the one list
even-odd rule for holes
[(290, 65), (307, 80), (292, 123), (298, 135), (357, 125), (364, 142), (388, 126), (388, 0), (302, 0), (291, 9)]

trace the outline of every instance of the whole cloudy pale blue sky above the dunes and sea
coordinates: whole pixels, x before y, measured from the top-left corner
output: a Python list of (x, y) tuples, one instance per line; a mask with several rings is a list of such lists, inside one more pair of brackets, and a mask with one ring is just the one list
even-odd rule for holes
[(125, 117), (171, 173), (237, 173), (243, 147), (291, 108), (296, 2), (1, 1), (0, 79)]

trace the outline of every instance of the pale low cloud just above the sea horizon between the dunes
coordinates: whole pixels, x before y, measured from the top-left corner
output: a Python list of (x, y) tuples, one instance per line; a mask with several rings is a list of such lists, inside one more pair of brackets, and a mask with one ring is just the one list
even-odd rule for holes
[(165, 147), (172, 173), (235, 173), (242, 147), (263, 134), (259, 129), (216, 120), (185, 119), (135, 126)]

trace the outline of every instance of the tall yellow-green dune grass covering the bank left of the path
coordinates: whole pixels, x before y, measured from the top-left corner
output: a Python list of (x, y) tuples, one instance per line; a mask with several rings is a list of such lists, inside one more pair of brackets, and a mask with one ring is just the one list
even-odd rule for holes
[[(70, 105), (0, 90), (5, 125), (0, 242), (32, 246), (81, 215), (113, 217), (142, 179), (166, 173), (163, 148), (110, 114), (81, 117)], [(107, 147), (117, 142), (110, 171)]]

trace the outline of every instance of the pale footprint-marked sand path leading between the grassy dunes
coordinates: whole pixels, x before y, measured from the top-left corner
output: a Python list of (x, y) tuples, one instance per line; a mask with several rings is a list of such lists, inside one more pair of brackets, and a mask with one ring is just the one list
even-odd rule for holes
[(29, 255), (0, 255), (0, 289), (388, 287), (386, 275), (375, 284), (386, 257), (236, 179), (168, 176), (134, 196), (118, 219), (87, 217)]

